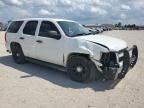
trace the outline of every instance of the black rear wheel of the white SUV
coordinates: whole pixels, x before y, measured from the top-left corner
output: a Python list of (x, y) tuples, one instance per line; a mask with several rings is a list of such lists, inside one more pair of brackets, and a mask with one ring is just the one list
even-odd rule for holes
[(12, 46), (12, 57), (13, 60), (18, 64), (26, 63), (23, 51), (19, 45)]

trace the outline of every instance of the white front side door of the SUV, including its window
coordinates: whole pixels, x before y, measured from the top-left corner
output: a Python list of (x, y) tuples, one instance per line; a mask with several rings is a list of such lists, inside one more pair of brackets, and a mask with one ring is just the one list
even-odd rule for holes
[[(64, 42), (56, 25), (50, 21), (42, 21), (39, 28), (36, 39), (37, 57), (42, 61), (62, 65)], [(56, 31), (60, 38), (50, 36), (49, 31)]]

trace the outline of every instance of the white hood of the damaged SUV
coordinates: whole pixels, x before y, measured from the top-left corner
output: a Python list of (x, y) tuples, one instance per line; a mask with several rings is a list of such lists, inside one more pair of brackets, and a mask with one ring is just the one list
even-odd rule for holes
[(87, 35), (87, 36), (79, 36), (76, 38), (104, 45), (108, 47), (110, 51), (120, 51), (127, 47), (125, 41), (104, 35)]

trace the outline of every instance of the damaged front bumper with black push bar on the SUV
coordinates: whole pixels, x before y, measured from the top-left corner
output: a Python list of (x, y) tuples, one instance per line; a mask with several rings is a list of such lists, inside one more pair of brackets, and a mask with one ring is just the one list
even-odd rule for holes
[[(119, 55), (121, 55), (119, 57)], [(117, 63), (114, 66), (103, 68), (103, 75), (106, 79), (122, 79), (127, 72), (132, 69), (138, 59), (138, 48), (134, 45), (132, 48), (125, 49), (116, 54)]]

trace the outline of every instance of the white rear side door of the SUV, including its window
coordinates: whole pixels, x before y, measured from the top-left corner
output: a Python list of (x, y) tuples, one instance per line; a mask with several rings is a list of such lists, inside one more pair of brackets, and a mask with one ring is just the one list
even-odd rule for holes
[(35, 58), (35, 41), (38, 21), (27, 21), (22, 29), (22, 35), (19, 37), (19, 41), (22, 45), (22, 49), (25, 56)]

